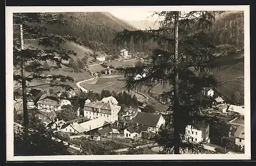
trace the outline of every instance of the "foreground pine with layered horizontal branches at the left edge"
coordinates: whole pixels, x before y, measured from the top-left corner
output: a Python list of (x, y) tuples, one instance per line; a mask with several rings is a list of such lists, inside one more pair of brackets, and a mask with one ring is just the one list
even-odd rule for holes
[[(73, 78), (62, 75), (43, 75), (50, 70), (61, 68), (62, 60), (69, 60), (71, 55), (76, 55), (73, 51), (62, 49), (60, 44), (67, 41), (73, 41), (81, 44), (81, 41), (72, 36), (60, 36), (49, 33), (47, 26), (67, 25), (67, 19), (59, 13), (15, 13), (13, 14), (13, 61), (14, 67), (20, 69), (20, 73), (14, 74), (14, 81), (21, 83), (23, 88), (23, 111), (25, 133), (28, 134), (29, 115), (27, 109), (27, 96), (39, 92), (38, 88), (46, 84), (27, 85), (33, 80), (50, 79), (50, 87), (62, 87), (66, 90), (72, 89), (70, 85), (64, 82), (73, 81)], [(17, 27), (19, 29), (17, 30)], [(28, 48), (24, 41), (36, 40), (38, 45), (44, 45), (46, 49), (34, 50)], [(35, 61), (36, 60), (36, 61)], [(34, 61), (33, 64), (30, 62)], [(53, 65), (44, 66), (44, 62), (51, 62)], [(25, 70), (30, 71), (29, 75)], [(48, 97), (58, 100), (55, 97)]]

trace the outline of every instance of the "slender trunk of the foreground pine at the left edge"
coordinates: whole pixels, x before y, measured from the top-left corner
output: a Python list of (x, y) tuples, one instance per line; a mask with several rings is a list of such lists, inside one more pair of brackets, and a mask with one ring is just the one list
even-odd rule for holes
[[(24, 50), (24, 40), (23, 40), (23, 25), (20, 24), (20, 51)], [(23, 117), (24, 117), (24, 132), (28, 134), (28, 126), (29, 126), (29, 114), (27, 108), (27, 90), (26, 90), (26, 76), (25, 76), (25, 57), (22, 53), (22, 96), (23, 96)]]

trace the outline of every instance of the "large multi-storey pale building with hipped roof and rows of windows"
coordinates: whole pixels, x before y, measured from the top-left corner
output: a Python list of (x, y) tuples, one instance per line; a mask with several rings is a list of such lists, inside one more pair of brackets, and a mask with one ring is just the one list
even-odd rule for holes
[(111, 102), (94, 101), (84, 104), (83, 111), (84, 116), (87, 116), (91, 120), (97, 117), (106, 117), (114, 123), (115, 121), (118, 121), (118, 113), (120, 109), (120, 106)]

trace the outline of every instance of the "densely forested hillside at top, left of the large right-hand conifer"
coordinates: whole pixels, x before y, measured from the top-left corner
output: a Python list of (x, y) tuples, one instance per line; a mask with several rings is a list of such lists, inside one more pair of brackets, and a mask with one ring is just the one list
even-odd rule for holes
[[(114, 45), (112, 40), (115, 31), (137, 30), (129, 23), (113, 16), (108, 12), (73, 12), (62, 13), (69, 18), (68, 26), (51, 26), (52, 33), (60, 35), (73, 35), (79, 37), (85, 46), (94, 51), (103, 51), (106, 54), (119, 54), (125, 47), (130, 51), (146, 52), (148, 47), (145, 44)], [(73, 17), (71, 19), (70, 17)]]

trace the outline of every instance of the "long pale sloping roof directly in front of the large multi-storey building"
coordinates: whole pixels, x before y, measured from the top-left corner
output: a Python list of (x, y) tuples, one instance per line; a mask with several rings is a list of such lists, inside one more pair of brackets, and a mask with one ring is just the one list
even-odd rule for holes
[(87, 132), (87, 131), (94, 130), (94, 129), (100, 128), (102, 126), (105, 126), (107, 124), (110, 124), (110, 120), (108, 118), (106, 118), (105, 116), (101, 116), (101, 117), (95, 118), (94, 120), (80, 123), (79, 125), (82, 128), (84, 128), (85, 132)]

